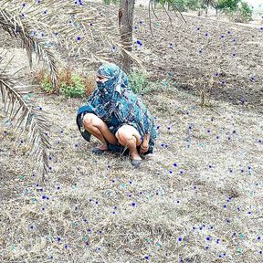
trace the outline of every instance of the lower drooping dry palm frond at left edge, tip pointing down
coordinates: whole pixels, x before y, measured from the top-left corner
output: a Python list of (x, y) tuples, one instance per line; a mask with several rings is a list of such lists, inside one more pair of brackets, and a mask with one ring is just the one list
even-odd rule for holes
[(32, 145), (30, 155), (39, 166), (42, 165), (42, 180), (47, 174), (47, 147), (50, 146), (47, 141), (47, 132), (49, 124), (47, 119), (43, 116), (41, 110), (37, 107), (29, 105), (26, 100), (14, 89), (14, 83), (9, 79), (4, 71), (0, 71), (0, 97), (4, 104), (3, 111), (5, 116), (15, 123), (16, 131), (20, 129), (20, 133), (28, 132), (29, 143)]

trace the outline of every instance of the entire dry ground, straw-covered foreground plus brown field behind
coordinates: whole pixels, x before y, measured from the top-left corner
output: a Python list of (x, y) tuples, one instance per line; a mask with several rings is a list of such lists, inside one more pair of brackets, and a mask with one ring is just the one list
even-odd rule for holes
[[(0, 115), (1, 263), (263, 261), (263, 30), (191, 16), (187, 24), (174, 16), (173, 29), (157, 12), (162, 26), (154, 26), (154, 37), (147, 11), (137, 8), (134, 18), (134, 37), (143, 43), (134, 53), (151, 73), (142, 100), (159, 131), (141, 167), (89, 152), (99, 141), (83, 140), (76, 125), (87, 98), (34, 87), (31, 99), (52, 123), (42, 183), (26, 134), (15, 141)], [(0, 34), (5, 59), (16, 55), (10, 70), (26, 66), (18, 76), (28, 84), (38, 66), (30, 70), (26, 51)], [(64, 59), (96, 71), (79, 61)], [(217, 68), (212, 98), (201, 106), (200, 87)]]

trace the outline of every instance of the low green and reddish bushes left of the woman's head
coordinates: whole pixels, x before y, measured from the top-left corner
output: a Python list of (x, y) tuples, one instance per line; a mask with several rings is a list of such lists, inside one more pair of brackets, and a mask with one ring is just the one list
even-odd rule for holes
[[(45, 70), (37, 72), (37, 83), (47, 93), (55, 91), (50, 75)], [(90, 95), (96, 89), (95, 77), (88, 78), (72, 72), (70, 68), (61, 70), (58, 74), (58, 91), (66, 98), (82, 98)]]

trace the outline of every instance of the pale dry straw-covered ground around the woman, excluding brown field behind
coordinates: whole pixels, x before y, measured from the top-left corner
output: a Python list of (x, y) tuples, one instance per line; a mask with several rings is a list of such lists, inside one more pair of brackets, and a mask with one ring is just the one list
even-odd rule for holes
[[(12, 66), (26, 65), (8, 43), (7, 56), (19, 53)], [(143, 101), (160, 136), (138, 169), (89, 153), (98, 141), (85, 142), (75, 123), (85, 100), (36, 88), (32, 99), (53, 124), (41, 184), (26, 136), (12, 141), (1, 116), (1, 262), (262, 262), (261, 110), (223, 100), (202, 108), (176, 82), (150, 85)]]

